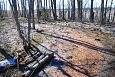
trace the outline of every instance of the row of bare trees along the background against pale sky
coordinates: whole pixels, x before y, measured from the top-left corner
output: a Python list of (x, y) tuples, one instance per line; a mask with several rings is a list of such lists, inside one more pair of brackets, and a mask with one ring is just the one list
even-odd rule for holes
[[(66, 8), (65, 1), (67, 3)], [(29, 0), (16, 0), (16, 2), (19, 15), (27, 17)], [(112, 7), (114, 5), (113, 0), (111, 0), (110, 6), (108, 6), (108, 0), (101, 0), (100, 7), (94, 7), (94, 0), (90, 0), (90, 2), (90, 7), (86, 7), (87, 4), (83, 0), (59, 0), (58, 3), (56, 0), (32, 0), (32, 17), (37, 17), (38, 22), (40, 19), (49, 20), (50, 18), (54, 20), (78, 20), (83, 22), (86, 15), (89, 15), (86, 20), (90, 22), (95, 22), (96, 16), (98, 16), (101, 24), (115, 21), (115, 7)], [(5, 16), (6, 10), (7, 0), (6, 2), (0, 1), (0, 16)]]

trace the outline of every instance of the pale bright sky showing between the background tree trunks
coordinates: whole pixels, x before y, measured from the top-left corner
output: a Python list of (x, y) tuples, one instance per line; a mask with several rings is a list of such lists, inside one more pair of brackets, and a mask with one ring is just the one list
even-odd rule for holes
[[(8, 0), (0, 0), (0, 1), (4, 1), (4, 2), (6, 2), (6, 4), (7, 4), (7, 9), (9, 10), (10, 9), (10, 5), (9, 5), (9, 2), (8, 2)], [(43, 1), (43, 3), (44, 3), (44, 0), (42, 0)], [(49, 1), (49, 0), (47, 0), (47, 1)], [(57, 8), (59, 8), (59, 2), (60, 1), (62, 1), (62, 0), (56, 0), (56, 2), (57, 2)], [(64, 3), (64, 6), (65, 6), (65, 8), (67, 8), (67, 5), (68, 5), (68, 0), (64, 0), (65, 1), (65, 3)], [(91, 2), (90, 2), (91, 0), (83, 0), (83, 7), (90, 7), (90, 4), (91, 4)], [(106, 0), (104, 0), (104, 1), (106, 1)], [(76, 8), (77, 8), (77, 0), (75, 0), (75, 3), (76, 3)], [(110, 6), (110, 4), (111, 4), (111, 0), (108, 0), (108, 6)], [(62, 4), (61, 4), (62, 5)], [(85, 6), (86, 5), (86, 6)], [(101, 5), (101, 0), (94, 0), (94, 7), (99, 7)], [(112, 7), (115, 7), (115, 0), (113, 0), (113, 4), (112, 4)], [(61, 7), (62, 8), (62, 7)]]

